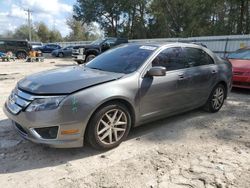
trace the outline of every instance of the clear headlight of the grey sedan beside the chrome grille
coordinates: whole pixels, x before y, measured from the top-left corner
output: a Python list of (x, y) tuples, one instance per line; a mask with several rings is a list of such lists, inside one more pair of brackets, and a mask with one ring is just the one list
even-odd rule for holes
[(27, 112), (56, 109), (65, 96), (35, 99), (26, 109)]

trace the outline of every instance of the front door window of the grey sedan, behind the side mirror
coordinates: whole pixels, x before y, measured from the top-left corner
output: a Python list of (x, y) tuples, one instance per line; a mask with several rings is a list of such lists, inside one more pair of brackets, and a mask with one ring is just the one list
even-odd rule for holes
[(163, 50), (153, 61), (152, 66), (166, 67), (167, 71), (186, 68), (185, 57), (181, 47)]

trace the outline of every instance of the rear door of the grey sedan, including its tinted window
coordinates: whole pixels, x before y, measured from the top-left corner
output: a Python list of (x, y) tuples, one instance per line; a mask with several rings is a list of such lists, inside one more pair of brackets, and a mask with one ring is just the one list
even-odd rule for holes
[(185, 47), (183, 50), (189, 67), (186, 74), (190, 78), (190, 103), (203, 105), (216, 81), (217, 66), (213, 58), (200, 48)]

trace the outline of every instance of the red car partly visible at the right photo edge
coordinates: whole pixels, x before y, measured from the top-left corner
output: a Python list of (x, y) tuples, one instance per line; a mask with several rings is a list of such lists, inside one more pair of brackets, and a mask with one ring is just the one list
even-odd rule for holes
[(228, 59), (233, 66), (233, 87), (250, 89), (250, 47), (231, 53)]

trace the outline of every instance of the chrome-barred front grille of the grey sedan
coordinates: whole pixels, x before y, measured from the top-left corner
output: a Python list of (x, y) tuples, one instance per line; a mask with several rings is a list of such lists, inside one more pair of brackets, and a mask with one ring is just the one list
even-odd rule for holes
[(6, 102), (6, 106), (11, 113), (18, 114), (21, 110), (24, 110), (33, 100), (34, 96), (19, 89), (14, 89)]

